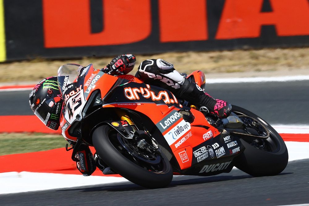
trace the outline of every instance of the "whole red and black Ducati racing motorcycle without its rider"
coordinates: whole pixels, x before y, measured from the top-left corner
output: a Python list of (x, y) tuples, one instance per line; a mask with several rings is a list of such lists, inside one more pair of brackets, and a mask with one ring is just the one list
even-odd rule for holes
[[(205, 76), (186, 78), (201, 88)], [(221, 119), (132, 75), (114, 77), (76, 64), (58, 70), (64, 100), (62, 135), (93, 146), (113, 171), (143, 187), (167, 186), (173, 174), (210, 176), (233, 166), (252, 176), (276, 175), (288, 162), (280, 135), (262, 118), (232, 106)]]

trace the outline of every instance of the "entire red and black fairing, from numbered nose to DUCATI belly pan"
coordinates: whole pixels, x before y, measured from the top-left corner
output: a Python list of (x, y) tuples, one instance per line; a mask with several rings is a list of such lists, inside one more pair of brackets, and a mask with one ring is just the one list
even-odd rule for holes
[[(222, 134), (200, 111), (183, 107), (170, 91), (147, 85), (132, 75), (114, 77), (93, 70), (91, 65), (70, 85), (61, 86), (65, 101), (61, 127), (70, 140), (83, 137), (92, 145), (92, 131), (102, 124), (121, 131), (116, 113), (125, 109), (138, 128), (147, 128), (155, 137), (176, 173), (208, 176), (229, 172), (233, 158), (243, 150), (240, 141), (231, 136), (236, 142), (228, 147), (230, 142), (222, 141)], [(191, 124), (180, 116), (183, 109), (195, 117)]]

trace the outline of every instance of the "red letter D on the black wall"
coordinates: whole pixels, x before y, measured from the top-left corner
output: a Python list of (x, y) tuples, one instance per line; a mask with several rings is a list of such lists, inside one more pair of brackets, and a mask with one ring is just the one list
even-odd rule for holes
[(103, 1), (104, 30), (91, 33), (90, 0), (43, 0), (46, 48), (129, 44), (151, 32), (149, 0)]

